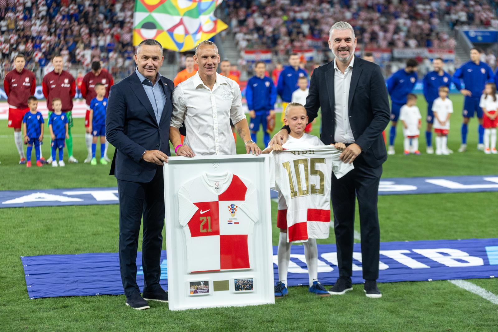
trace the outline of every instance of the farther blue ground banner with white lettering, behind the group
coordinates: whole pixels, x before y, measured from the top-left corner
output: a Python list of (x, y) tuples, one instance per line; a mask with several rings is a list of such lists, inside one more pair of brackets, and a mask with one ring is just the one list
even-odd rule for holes
[[(498, 191), (498, 175), (381, 179), (379, 195)], [(271, 198), (276, 198), (275, 191)], [(0, 191), (0, 208), (118, 204), (118, 188)]]

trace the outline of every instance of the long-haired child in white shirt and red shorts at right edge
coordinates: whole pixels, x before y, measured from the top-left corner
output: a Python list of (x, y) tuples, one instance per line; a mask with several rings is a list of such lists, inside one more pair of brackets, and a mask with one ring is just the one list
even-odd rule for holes
[(498, 95), (495, 83), (486, 84), (479, 107), (484, 112), (484, 153), (497, 154)]

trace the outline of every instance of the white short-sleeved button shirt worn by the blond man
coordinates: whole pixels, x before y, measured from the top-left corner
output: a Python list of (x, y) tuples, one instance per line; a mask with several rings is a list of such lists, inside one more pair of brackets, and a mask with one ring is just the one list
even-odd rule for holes
[(246, 118), (241, 99), (234, 80), (217, 73), (211, 90), (197, 72), (173, 90), (171, 126), (180, 128), (185, 121), (184, 144), (195, 154), (237, 154), (230, 119), (237, 123)]

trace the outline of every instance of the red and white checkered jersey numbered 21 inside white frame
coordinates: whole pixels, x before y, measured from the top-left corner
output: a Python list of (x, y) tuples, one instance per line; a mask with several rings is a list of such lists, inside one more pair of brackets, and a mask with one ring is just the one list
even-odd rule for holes
[(189, 273), (251, 267), (248, 243), (258, 220), (254, 185), (232, 173), (205, 173), (180, 188), (178, 205)]

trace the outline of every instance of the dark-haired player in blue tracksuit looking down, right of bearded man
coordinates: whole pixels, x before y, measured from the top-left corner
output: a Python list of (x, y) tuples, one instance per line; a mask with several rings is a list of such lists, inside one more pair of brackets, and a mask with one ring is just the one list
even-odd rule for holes
[(387, 79), (387, 91), (391, 96), (391, 129), (389, 131), (389, 149), (387, 154), (394, 154), (394, 139), (396, 138), (396, 123), (399, 110), (406, 104), (406, 97), (411, 93), (417, 82), (417, 62), (414, 59), (406, 61), (406, 67), (400, 69)]

